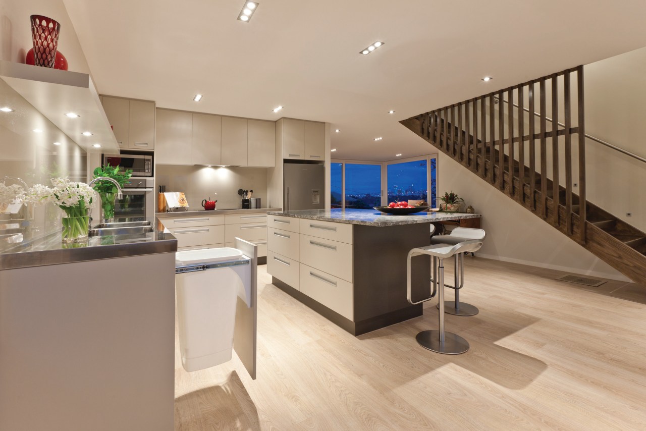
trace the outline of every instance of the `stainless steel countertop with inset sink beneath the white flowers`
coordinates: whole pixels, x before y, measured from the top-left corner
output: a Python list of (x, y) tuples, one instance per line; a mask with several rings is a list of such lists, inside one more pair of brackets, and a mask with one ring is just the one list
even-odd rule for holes
[(90, 237), (83, 244), (63, 244), (60, 232), (46, 237), (27, 232), (20, 234), (22, 238), (3, 238), (0, 244), (0, 270), (177, 251), (177, 239), (171, 233), (163, 232), (163, 224), (155, 220), (153, 226), (154, 232), (137, 236)]

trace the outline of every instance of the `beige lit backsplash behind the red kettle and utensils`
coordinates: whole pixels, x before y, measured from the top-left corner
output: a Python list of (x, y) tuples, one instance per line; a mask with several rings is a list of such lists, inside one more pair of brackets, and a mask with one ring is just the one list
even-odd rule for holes
[(218, 201), (217, 209), (239, 209), (239, 189), (253, 190), (251, 197), (267, 206), (266, 167), (157, 165), (155, 169), (155, 190), (165, 185), (166, 191), (183, 192), (193, 210), (202, 209), (202, 200), (207, 198)]

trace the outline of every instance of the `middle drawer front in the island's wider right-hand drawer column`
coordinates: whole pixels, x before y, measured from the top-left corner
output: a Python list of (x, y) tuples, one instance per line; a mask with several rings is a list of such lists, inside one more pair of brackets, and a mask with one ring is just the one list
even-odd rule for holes
[(301, 234), (300, 262), (352, 282), (352, 246), (345, 242)]

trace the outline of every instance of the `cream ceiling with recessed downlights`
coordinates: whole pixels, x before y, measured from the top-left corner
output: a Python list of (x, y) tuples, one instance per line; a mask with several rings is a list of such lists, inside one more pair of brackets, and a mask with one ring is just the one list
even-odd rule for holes
[(243, 0), (64, 3), (102, 94), (327, 121), (353, 160), (428, 154), (399, 120), (646, 46), (643, 0), (256, 1), (249, 23)]

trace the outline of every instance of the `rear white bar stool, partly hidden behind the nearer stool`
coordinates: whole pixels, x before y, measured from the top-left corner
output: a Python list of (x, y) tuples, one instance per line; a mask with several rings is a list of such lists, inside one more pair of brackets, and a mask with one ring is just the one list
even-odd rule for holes
[[(466, 240), (484, 240), (486, 233), (483, 229), (475, 229), (473, 227), (455, 227), (450, 235), (437, 235), (431, 238), (431, 244), (445, 244), (445, 245), (454, 245), (464, 242)], [(474, 253), (477, 251), (474, 249), (468, 253)], [(450, 284), (445, 284), (447, 288), (452, 288), (455, 290), (455, 300), (444, 302), (444, 311), (449, 314), (456, 316), (474, 316), (479, 310), (477, 307), (467, 304), (466, 302), (460, 302), (460, 289), (464, 286), (464, 253), (456, 254), (455, 259), (455, 285), (451, 286)], [(433, 278), (435, 277), (435, 266), (433, 266)], [(439, 308), (439, 304), (437, 304)]]

